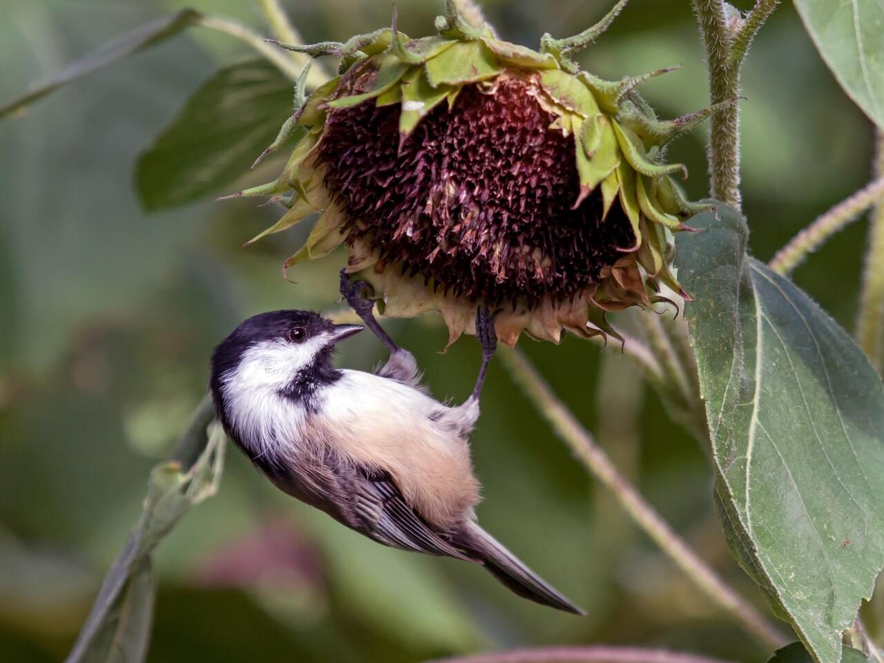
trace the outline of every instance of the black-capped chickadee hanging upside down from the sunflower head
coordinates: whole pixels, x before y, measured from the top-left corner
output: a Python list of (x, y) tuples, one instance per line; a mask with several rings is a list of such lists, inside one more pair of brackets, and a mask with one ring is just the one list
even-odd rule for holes
[(463, 404), (434, 400), (414, 356), (377, 324), (364, 282), (341, 293), (390, 350), (377, 372), (339, 370), (335, 344), (363, 327), (316, 313), (250, 317), (215, 350), (210, 389), (227, 435), (283, 492), (394, 548), (484, 565), (516, 594), (582, 614), (476, 523), (479, 483), (469, 432), (497, 338), (476, 320), (483, 362)]

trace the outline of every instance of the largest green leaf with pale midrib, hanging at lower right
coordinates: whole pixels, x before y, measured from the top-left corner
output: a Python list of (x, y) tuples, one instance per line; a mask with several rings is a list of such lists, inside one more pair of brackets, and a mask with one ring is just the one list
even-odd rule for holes
[(746, 255), (738, 213), (691, 225), (677, 265), (728, 540), (831, 663), (884, 564), (884, 388), (816, 303)]

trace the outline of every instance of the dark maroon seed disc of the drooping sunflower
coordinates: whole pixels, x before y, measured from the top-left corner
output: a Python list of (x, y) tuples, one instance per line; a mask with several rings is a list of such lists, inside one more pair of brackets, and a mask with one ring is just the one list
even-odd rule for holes
[(472, 300), (532, 305), (596, 282), (634, 243), (629, 219), (614, 202), (602, 221), (598, 188), (571, 209), (573, 139), (529, 93), (516, 77), (466, 86), (401, 145), (398, 104), (331, 111), (318, 161), (347, 243)]

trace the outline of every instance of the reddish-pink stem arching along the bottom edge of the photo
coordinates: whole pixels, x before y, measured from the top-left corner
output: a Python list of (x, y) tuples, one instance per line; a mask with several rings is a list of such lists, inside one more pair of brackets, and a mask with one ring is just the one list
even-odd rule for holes
[(455, 656), (427, 663), (725, 663), (720, 659), (639, 647), (537, 647), (474, 656)]

